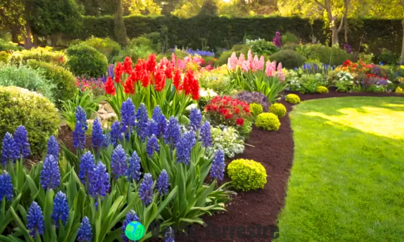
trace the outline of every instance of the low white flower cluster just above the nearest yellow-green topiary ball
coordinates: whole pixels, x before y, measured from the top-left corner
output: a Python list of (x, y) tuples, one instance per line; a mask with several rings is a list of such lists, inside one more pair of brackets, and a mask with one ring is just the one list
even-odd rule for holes
[(229, 158), (243, 153), (244, 141), (240, 139), (238, 131), (234, 127), (211, 128), (211, 134), (213, 142), (208, 153), (215, 153), (218, 149), (221, 149)]

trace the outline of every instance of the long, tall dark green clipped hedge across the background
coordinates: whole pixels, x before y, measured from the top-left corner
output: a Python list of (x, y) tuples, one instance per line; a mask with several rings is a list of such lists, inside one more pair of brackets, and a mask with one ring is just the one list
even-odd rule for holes
[[(215, 16), (196, 16), (190, 19), (180, 19), (175, 16), (124, 17), (128, 38), (138, 37), (151, 32), (166, 32), (169, 46), (200, 48), (202, 39), (207, 40), (211, 48), (227, 48), (241, 43), (246, 35), (249, 39), (264, 38), (272, 40), (276, 31), (291, 32), (303, 42), (311, 42), (311, 35), (324, 43), (329, 30), (324, 30), (324, 22), (316, 20), (313, 29), (308, 19), (300, 17), (248, 17), (229, 18)], [(400, 52), (402, 26), (401, 19), (350, 19), (349, 44), (352, 49), (358, 50), (361, 43), (370, 45), (372, 52), (379, 52), (382, 46), (393, 52)], [(343, 31), (340, 32), (340, 41), (343, 41)], [(95, 37), (114, 38), (114, 17), (83, 17), (83, 29), (79, 36), (74, 38), (87, 39)], [(165, 36), (162, 36), (165, 38)], [(361, 42), (362, 40), (362, 42)], [(342, 44), (342, 43), (341, 43)]]

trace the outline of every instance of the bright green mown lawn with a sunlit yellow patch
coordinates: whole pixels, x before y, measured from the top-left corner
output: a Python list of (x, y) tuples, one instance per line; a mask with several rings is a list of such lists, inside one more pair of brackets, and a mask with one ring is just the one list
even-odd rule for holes
[(404, 241), (404, 98), (305, 101), (279, 241)]

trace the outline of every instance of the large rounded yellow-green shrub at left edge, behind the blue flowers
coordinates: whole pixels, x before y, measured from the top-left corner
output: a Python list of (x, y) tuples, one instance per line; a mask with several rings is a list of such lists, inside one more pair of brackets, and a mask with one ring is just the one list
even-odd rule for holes
[[(58, 109), (42, 95), (19, 87), (0, 86), (0, 137), (23, 125), (33, 156), (42, 155), (51, 135), (58, 133)], [(0, 144), (1, 146), (1, 144)]]

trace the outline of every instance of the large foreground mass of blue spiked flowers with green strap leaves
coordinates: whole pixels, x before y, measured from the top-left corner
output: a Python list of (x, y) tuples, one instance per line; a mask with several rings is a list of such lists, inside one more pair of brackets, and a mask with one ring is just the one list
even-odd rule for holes
[(203, 123), (199, 110), (191, 110), (183, 128), (159, 106), (149, 115), (144, 105), (130, 102), (124, 102), (110, 130), (95, 125), (91, 147), (78, 107), (75, 152), (63, 145), (60, 152), (51, 136), (43, 162), (29, 172), (22, 165), (29, 134), (19, 128), (4, 137), (0, 234), (15, 225), (18, 229), (6, 234), (12, 241), (128, 241), (125, 228), (138, 221), (145, 228), (143, 241), (152, 236), (151, 223), (163, 224), (158, 232), (165, 237), (170, 226), (200, 223), (202, 215), (225, 210), (232, 192), (228, 183), (217, 186), (224, 153), (207, 151), (210, 124)]

